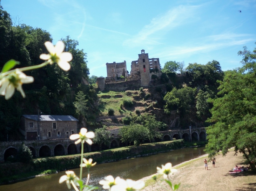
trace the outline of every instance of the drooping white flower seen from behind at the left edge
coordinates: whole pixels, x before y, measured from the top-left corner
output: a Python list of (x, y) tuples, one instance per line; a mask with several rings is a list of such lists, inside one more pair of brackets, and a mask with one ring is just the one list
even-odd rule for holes
[(22, 89), (23, 83), (32, 83), (34, 78), (32, 76), (26, 76), (23, 72), (18, 69), (5, 76), (0, 80), (0, 95), (4, 95), (6, 100), (9, 100), (15, 92), (15, 88), (21, 93), (22, 97), (25, 98), (26, 95)]

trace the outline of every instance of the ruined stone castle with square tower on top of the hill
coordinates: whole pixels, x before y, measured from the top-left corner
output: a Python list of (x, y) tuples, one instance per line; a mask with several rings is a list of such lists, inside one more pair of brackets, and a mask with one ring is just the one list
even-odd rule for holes
[(148, 87), (152, 75), (161, 76), (159, 58), (148, 58), (145, 50), (141, 50), (138, 60), (132, 61), (130, 74), (125, 60), (122, 63), (106, 63), (106, 66), (107, 77), (97, 78), (97, 85), (101, 91)]

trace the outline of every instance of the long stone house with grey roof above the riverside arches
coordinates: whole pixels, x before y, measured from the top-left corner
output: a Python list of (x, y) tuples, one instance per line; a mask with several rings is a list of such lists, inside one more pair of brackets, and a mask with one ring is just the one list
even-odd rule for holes
[(22, 115), (19, 131), (26, 140), (64, 139), (77, 133), (77, 122), (73, 116)]

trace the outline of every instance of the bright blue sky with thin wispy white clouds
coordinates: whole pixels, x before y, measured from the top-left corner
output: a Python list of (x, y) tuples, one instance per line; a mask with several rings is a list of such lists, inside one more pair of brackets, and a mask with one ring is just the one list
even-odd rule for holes
[[(241, 66), (237, 52), (256, 45), (256, 0), (1, 0), (16, 23), (42, 28), (53, 43), (70, 36), (87, 53), (90, 76), (106, 63), (149, 58)], [(241, 10), (241, 13), (238, 12)], [(19, 21), (19, 22), (18, 22)]]

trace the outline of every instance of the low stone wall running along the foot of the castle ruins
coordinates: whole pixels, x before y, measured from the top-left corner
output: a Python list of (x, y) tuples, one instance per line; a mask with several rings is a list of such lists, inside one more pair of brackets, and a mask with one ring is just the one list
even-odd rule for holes
[(134, 90), (141, 87), (140, 80), (132, 80), (125, 82), (116, 82), (116, 83), (106, 83), (106, 91), (125, 91), (125, 90)]

